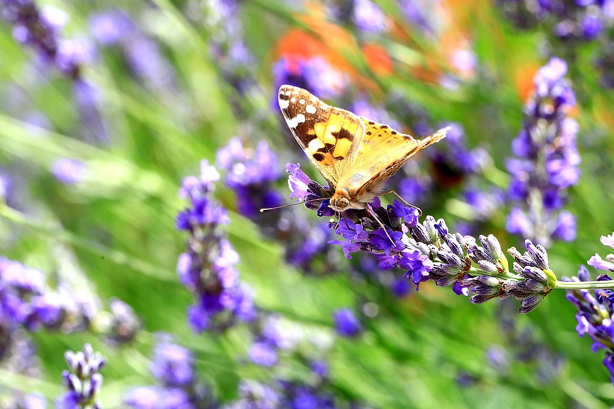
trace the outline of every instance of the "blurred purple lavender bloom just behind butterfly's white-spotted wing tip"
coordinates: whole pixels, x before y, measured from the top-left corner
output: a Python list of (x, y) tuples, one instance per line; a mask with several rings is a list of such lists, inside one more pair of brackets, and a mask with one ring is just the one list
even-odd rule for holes
[(346, 74), (332, 67), (321, 56), (308, 59), (282, 57), (273, 66), (275, 90), (283, 84), (289, 84), (305, 88), (321, 99), (327, 99), (343, 94), (348, 81)]

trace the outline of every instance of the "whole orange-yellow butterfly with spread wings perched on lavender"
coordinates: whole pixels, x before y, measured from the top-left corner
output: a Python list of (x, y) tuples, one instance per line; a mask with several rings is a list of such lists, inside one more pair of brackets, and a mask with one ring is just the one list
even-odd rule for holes
[[(290, 131), (316, 169), (335, 189), (329, 207), (363, 209), (387, 191), (387, 180), (407, 159), (446, 136), (448, 128), (424, 139), (325, 104), (303, 88), (282, 85), (279, 107)], [(414, 207), (414, 206), (412, 206)]]

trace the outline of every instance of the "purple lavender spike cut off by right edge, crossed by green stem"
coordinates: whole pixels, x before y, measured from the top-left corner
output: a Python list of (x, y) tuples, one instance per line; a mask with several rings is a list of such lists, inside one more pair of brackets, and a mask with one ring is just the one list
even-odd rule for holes
[[(597, 267), (597, 268), (601, 268)], [(591, 277), (585, 266), (580, 266), (578, 277), (563, 278), (563, 281), (590, 281)], [(597, 281), (610, 281), (607, 274), (601, 274)], [(613, 283), (614, 287), (614, 283)], [(605, 349), (604, 365), (610, 371), (610, 380), (614, 384), (614, 324), (612, 321), (612, 292), (610, 290), (568, 289), (567, 300), (578, 308), (575, 318), (578, 325), (575, 330), (580, 337), (588, 334), (593, 340), (591, 349), (596, 353)]]

